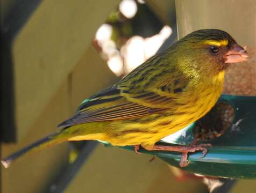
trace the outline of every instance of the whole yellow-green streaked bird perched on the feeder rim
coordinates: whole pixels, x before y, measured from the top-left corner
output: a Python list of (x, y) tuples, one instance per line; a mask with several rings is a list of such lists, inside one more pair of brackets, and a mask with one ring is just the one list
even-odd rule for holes
[(207, 153), (210, 144), (156, 144), (195, 122), (215, 105), (223, 90), (225, 70), (244, 62), (247, 51), (220, 29), (194, 31), (158, 53), (116, 84), (84, 100), (58, 131), (1, 160), (4, 167), (22, 155), (66, 141), (98, 140), (113, 146), (148, 151)]

